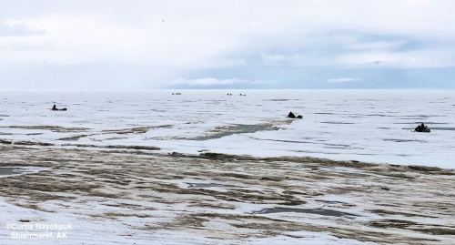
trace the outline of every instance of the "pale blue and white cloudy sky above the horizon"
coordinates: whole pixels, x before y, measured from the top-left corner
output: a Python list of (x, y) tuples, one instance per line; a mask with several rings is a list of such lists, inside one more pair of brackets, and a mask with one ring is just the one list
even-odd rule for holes
[(0, 6), (0, 89), (455, 88), (452, 0)]

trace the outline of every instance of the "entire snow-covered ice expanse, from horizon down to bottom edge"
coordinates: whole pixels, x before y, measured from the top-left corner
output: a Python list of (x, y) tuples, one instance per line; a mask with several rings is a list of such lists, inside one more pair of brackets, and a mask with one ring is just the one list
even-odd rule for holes
[[(0, 101), (0, 244), (455, 243), (450, 90), (0, 91)], [(430, 133), (411, 132), (421, 122)]]

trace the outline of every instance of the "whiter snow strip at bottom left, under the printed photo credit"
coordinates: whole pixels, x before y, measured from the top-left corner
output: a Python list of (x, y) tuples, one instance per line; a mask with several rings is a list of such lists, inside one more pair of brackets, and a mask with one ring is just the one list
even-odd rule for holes
[[(115, 219), (90, 219), (84, 214), (71, 214), (65, 210), (49, 213), (25, 209), (7, 204), (0, 200), (2, 218), (0, 240), (2, 244), (320, 244), (320, 245), (368, 245), (373, 242), (339, 239), (326, 233), (308, 231), (289, 231), (283, 235), (269, 238), (250, 238), (243, 240), (220, 240), (184, 231), (133, 230), (130, 226)], [(22, 220), (22, 221), (21, 221)], [(27, 225), (25, 227), (25, 224)], [(62, 225), (53, 228), (52, 225)], [(45, 226), (48, 227), (45, 227)], [(141, 221), (136, 220), (140, 226)], [(5, 229), (6, 226), (15, 229)], [(222, 228), (222, 224), (218, 224)], [(47, 230), (46, 230), (47, 229)], [(18, 234), (49, 234), (51, 238), (20, 238)]]

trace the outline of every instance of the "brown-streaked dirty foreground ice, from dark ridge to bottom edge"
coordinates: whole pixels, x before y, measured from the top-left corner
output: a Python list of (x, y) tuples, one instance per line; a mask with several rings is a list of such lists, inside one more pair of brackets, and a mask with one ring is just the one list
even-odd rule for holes
[[(455, 244), (453, 170), (0, 149), (0, 166), (42, 169), (0, 178), (1, 244)], [(66, 228), (29, 227), (36, 224)], [(53, 232), (53, 239), (14, 232)]]

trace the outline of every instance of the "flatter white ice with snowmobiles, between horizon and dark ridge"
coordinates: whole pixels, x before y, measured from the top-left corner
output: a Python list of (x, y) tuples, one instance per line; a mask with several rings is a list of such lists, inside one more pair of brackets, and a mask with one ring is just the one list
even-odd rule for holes
[[(0, 91), (0, 101), (3, 144), (455, 168), (454, 90)], [(412, 132), (422, 122), (431, 132)]]

